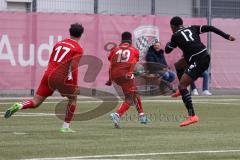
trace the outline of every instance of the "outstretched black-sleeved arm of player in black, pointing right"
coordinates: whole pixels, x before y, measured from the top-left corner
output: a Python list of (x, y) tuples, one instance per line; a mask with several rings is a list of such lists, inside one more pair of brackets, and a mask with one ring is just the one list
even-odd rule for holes
[(214, 27), (214, 26), (209, 26), (209, 25), (204, 25), (201, 27), (201, 32), (202, 33), (205, 33), (205, 32), (214, 32), (215, 34), (229, 40), (229, 41), (235, 41), (236, 39), (229, 35), (229, 34), (226, 34), (225, 32), (221, 31), (220, 29)]

